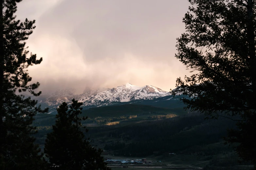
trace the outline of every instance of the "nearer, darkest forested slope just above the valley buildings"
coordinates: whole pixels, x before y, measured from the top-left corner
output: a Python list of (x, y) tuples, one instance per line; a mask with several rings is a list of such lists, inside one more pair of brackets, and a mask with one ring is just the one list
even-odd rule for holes
[[(168, 155), (173, 152), (190, 154), (200, 151), (197, 149), (198, 146), (220, 142), (227, 134), (228, 127), (234, 127), (231, 120), (207, 121), (199, 115), (152, 121), (113, 128), (109, 132), (109, 137), (118, 140), (107, 143), (104, 149), (116, 150), (116, 154), (127, 156), (164, 155), (165, 153)], [(213, 154), (212, 150), (204, 151), (206, 156)]]

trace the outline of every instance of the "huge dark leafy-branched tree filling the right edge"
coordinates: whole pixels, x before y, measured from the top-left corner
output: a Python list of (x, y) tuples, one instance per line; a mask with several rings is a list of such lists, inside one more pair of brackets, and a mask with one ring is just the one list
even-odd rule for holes
[(241, 158), (256, 163), (256, 2), (189, 2), (176, 58), (194, 74), (178, 78), (172, 94), (190, 96), (181, 99), (186, 108), (208, 118), (239, 115), (238, 130), (230, 130), (226, 140), (240, 143)]

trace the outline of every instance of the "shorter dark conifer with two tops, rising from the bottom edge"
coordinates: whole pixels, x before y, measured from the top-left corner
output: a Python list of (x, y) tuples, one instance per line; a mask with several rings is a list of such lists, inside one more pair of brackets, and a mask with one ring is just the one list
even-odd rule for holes
[(81, 120), (86, 118), (79, 117), (82, 103), (75, 99), (72, 102), (70, 109), (65, 102), (57, 108), (53, 132), (47, 134), (44, 153), (49, 158), (50, 167), (60, 170), (109, 169), (101, 156), (102, 150), (92, 147), (88, 139), (84, 139), (81, 128), (86, 127), (82, 126)]

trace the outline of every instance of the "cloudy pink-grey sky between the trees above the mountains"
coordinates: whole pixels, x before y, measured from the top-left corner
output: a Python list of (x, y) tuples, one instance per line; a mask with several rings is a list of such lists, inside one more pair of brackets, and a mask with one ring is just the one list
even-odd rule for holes
[(189, 75), (175, 58), (188, 6), (187, 0), (23, 0), (17, 18), (36, 20), (27, 45), (43, 57), (30, 76), (43, 93), (127, 82), (174, 89), (176, 78)]

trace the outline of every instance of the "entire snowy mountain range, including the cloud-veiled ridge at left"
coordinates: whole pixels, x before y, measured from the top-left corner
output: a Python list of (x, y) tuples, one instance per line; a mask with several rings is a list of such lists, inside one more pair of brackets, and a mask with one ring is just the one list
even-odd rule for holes
[(52, 94), (45, 94), (35, 98), (42, 107), (49, 107), (50, 112), (56, 112), (56, 107), (66, 102), (71, 103), (75, 98), (83, 103), (84, 107), (109, 106), (120, 102), (130, 103), (141, 100), (152, 100), (170, 95), (170, 92), (163, 91), (154, 86), (135, 86), (127, 83), (112, 89), (86, 88), (82, 94), (76, 94), (75, 89), (58, 90)]

